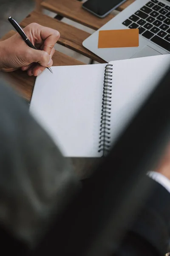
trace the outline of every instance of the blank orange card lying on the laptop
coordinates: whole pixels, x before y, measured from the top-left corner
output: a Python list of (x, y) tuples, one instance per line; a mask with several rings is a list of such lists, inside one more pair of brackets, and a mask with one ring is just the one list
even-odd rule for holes
[(98, 48), (138, 47), (139, 29), (100, 30)]

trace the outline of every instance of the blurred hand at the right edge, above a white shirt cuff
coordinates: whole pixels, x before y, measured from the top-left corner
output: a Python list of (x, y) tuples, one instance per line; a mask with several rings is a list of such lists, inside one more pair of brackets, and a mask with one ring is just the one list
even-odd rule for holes
[(170, 145), (168, 145), (164, 157), (159, 162), (155, 171), (161, 173), (170, 180)]

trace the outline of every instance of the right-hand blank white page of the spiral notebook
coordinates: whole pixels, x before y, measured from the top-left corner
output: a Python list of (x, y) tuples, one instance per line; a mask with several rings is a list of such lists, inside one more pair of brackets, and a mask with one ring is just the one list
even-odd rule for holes
[(170, 65), (170, 55), (111, 61), (113, 64), (111, 141), (130, 122)]

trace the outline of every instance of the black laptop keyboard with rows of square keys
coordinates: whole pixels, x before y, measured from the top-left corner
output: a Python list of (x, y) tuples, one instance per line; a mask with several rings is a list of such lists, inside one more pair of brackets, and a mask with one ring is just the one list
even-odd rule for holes
[(150, 0), (122, 24), (130, 29), (138, 28), (140, 35), (170, 51), (170, 6)]

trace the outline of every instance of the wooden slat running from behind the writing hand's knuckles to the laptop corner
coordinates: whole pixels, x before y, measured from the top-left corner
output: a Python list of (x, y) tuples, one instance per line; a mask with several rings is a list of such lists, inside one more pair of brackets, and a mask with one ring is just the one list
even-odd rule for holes
[(99, 56), (97, 56), (96, 54), (82, 46), (82, 42), (90, 36), (88, 32), (85, 32), (82, 29), (77, 29), (74, 26), (51, 18), (47, 15), (43, 15), (39, 12), (31, 12), (31, 14), (29, 14), (26, 17), (26, 19), (24, 19), (20, 23), (20, 25), (22, 27), (25, 27), (32, 22), (38, 22), (42, 26), (48, 26), (51, 27), (52, 29), (57, 29), (60, 33), (58, 44), (61, 44), (65, 47), (68, 47), (69, 49), (79, 52), (82, 55), (85, 55), (86, 57), (93, 59), (94, 61), (106, 63)]

